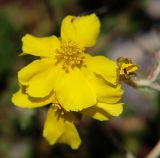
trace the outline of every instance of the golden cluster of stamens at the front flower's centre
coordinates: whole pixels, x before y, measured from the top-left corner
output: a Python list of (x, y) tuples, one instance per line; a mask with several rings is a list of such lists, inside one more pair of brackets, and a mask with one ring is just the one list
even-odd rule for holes
[(84, 59), (84, 48), (73, 41), (63, 42), (57, 49), (57, 63), (63, 62), (63, 69), (69, 72), (75, 66), (81, 67)]

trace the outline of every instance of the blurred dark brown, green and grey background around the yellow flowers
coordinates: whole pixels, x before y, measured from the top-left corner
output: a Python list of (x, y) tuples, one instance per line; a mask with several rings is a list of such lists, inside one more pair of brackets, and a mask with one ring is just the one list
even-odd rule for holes
[[(59, 35), (68, 14), (95, 12), (101, 21), (97, 45), (88, 50), (139, 65), (146, 78), (160, 49), (160, 0), (0, 0), (0, 158), (146, 157), (160, 138), (160, 92), (124, 85), (123, 114), (111, 121), (84, 118), (78, 125), (82, 144), (76, 151), (42, 137), (46, 108), (20, 109), (11, 103), (17, 72), (33, 56), (19, 57), (21, 38)], [(159, 156), (160, 157), (160, 156)]]

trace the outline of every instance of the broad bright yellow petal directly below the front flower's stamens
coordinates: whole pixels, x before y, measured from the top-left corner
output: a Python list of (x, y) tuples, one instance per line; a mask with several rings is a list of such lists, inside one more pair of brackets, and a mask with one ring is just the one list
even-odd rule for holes
[(96, 95), (78, 68), (62, 72), (55, 84), (55, 93), (64, 109), (79, 111), (96, 104)]

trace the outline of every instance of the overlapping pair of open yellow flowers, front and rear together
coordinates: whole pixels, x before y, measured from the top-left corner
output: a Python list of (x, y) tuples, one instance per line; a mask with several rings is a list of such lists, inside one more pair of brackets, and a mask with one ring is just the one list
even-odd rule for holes
[(81, 139), (74, 124), (79, 116), (103, 121), (123, 110), (117, 63), (85, 51), (95, 44), (99, 28), (95, 14), (67, 16), (60, 38), (25, 35), (22, 39), (22, 55), (40, 59), (19, 71), (20, 89), (12, 102), (22, 108), (51, 105), (43, 130), (50, 144), (65, 143), (77, 149)]

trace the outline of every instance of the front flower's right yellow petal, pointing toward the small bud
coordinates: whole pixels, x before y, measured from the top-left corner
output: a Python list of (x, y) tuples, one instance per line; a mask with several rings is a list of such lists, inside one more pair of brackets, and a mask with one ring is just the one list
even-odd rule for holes
[(87, 68), (97, 75), (101, 75), (107, 82), (116, 84), (117, 81), (117, 65), (104, 56), (86, 56), (85, 64)]

